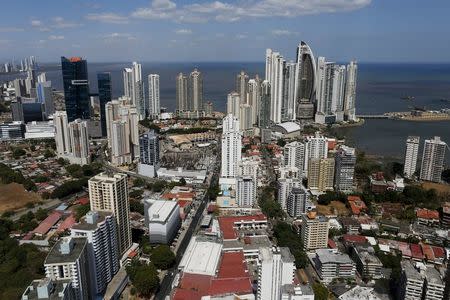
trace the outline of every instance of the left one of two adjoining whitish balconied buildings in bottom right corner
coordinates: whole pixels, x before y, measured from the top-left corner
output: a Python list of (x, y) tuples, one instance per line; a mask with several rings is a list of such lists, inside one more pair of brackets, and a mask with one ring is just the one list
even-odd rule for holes
[(409, 260), (402, 260), (402, 275), (399, 284), (399, 299), (422, 299), (424, 276), (417, 271)]

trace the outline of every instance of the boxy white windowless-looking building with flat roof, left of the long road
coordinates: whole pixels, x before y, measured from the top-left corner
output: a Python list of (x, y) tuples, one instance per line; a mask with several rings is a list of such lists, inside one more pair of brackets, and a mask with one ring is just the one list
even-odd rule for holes
[(144, 201), (144, 213), (150, 243), (170, 244), (181, 225), (177, 202), (147, 199)]

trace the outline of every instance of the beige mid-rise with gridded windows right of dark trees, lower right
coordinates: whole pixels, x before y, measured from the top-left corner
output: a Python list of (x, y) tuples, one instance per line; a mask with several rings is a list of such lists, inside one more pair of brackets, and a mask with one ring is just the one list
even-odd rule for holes
[(327, 248), (328, 219), (317, 216), (315, 212), (302, 215), (301, 238), (306, 251)]

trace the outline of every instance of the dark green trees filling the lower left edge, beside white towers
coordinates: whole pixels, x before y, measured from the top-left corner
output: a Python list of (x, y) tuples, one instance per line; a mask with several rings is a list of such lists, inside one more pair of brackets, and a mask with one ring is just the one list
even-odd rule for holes
[(9, 237), (17, 224), (0, 219), (0, 299), (19, 299), (28, 284), (44, 277), (45, 253)]

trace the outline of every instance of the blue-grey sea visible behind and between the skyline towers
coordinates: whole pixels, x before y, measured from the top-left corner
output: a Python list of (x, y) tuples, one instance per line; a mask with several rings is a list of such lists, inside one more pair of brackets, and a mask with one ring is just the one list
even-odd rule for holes
[[(131, 63), (89, 63), (91, 91), (97, 91), (96, 74), (110, 72), (113, 96), (123, 93), (122, 73)], [(179, 72), (189, 73), (198, 68), (203, 74), (204, 100), (211, 101), (214, 109), (226, 110), (227, 94), (234, 89), (235, 77), (240, 70), (250, 76), (264, 77), (263, 63), (143, 63), (142, 73), (160, 75), (161, 106), (175, 109), (175, 78)], [(55, 65), (43, 65), (53, 87), (62, 89), (61, 71)], [(15, 76), (13, 76), (15, 77)], [(11, 79), (0, 75), (0, 81)], [(413, 96), (413, 100), (401, 97)], [(389, 111), (408, 111), (413, 107), (426, 109), (450, 108), (450, 64), (379, 64), (358, 65), (357, 114), (380, 114)], [(347, 143), (368, 154), (385, 155), (401, 159), (408, 135), (426, 139), (441, 136), (450, 144), (450, 122), (407, 122), (394, 120), (366, 120), (358, 127), (342, 128)], [(422, 142), (421, 142), (422, 143)], [(450, 155), (448, 156), (450, 158)], [(450, 161), (450, 159), (448, 159)]]

